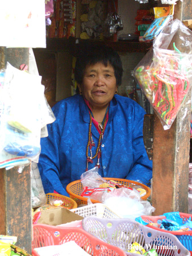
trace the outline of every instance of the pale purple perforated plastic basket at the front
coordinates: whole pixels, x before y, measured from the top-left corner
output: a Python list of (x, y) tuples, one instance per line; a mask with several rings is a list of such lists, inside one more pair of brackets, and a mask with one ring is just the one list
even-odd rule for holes
[(156, 249), (158, 256), (189, 256), (190, 252), (176, 236), (148, 228), (130, 218), (99, 218), (87, 216), (82, 220), (82, 227), (110, 245), (118, 246), (127, 255), (133, 242), (139, 243), (147, 251)]

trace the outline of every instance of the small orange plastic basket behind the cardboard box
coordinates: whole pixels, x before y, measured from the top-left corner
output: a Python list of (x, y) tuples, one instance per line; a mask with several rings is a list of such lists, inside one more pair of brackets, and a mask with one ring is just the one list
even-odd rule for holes
[(73, 208), (77, 208), (76, 201), (74, 201), (70, 197), (62, 196), (56, 193), (47, 193), (46, 197), (47, 197), (47, 204), (49, 204), (50, 199), (56, 199), (56, 200), (62, 200), (64, 202), (60, 207), (68, 208), (69, 210)]

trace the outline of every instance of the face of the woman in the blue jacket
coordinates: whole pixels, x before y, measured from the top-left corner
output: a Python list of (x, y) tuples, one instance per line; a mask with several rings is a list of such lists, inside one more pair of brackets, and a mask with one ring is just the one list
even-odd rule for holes
[(102, 63), (87, 65), (79, 88), (92, 110), (107, 107), (118, 88), (114, 68)]

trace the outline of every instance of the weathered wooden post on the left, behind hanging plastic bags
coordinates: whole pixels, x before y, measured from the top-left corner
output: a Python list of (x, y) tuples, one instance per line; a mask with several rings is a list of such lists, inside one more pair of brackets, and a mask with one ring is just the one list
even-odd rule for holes
[[(1, 47), (0, 68), (6, 68), (9, 61), (19, 69), (21, 64), (28, 65), (28, 57), (28, 48)], [(16, 236), (16, 245), (31, 253), (31, 164), (24, 168), (17, 166), (10, 170), (0, 169), (0, 184), (0, 234)]]

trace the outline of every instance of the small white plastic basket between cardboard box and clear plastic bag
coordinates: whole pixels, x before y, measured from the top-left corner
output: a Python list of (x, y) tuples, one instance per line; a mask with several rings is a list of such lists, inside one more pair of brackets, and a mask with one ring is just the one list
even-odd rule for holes
[(116, 213), (112, 212), (112, 210), (102, 203), (86, 205), (85, 207), (70, 209), (70, 211), (82, 217), (97, 216), (101, 218), (120, 218)]

